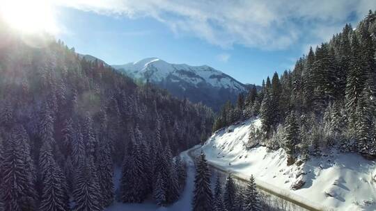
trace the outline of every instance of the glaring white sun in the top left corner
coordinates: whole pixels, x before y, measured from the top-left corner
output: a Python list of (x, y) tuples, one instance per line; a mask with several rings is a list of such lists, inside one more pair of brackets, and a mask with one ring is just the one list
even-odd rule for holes
[(0, 0), (0, 15), (11, 28), (21, 33), (49, 33), (58, 28), (49, 0)]

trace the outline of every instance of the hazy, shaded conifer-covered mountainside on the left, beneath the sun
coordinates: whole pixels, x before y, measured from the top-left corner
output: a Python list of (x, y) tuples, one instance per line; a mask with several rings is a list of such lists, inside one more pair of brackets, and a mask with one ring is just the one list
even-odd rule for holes
[[(209, 108), (137, 86), (63, 42), (35, 48), (0, 34), (0, 210), (178, 199), (184, 164), (173, 155), (210, 135)], [(123, 169), (117, 194), (114, 166)]]

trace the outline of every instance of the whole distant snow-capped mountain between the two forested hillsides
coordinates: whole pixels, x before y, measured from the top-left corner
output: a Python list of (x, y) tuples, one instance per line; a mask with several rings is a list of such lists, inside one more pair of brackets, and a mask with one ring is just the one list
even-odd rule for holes
[(111, 66), (136, 80), (155, 83), (175, 96), (201, 101), (214, 110), (227, 100), (235, 101), (237, 94), (247, 90), (246, 85), (207, 65), (171, 64), (159, 58), (146, 58)]

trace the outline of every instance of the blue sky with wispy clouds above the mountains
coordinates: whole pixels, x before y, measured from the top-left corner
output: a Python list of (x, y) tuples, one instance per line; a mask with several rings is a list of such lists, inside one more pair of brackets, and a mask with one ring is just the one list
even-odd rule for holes
[(291, 69), (310, 45), (328, 40), (347, 22), (355, 26), (376, 8), (373, 1), (322, 1), (316, 8), (309, 1), (288, 1), (289, 7), (272, 1), (150, 5), (155, 2), (57, 3), (56, 37), (112, 65), (158, 57), (210, 65), (242, 83), (260, 84), (274, 71)]

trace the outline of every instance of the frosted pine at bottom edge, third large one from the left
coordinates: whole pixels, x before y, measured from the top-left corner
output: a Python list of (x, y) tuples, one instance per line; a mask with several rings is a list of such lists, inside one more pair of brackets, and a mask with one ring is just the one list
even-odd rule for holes
[(75, 177), (73, 198), (75, 206), (73, 211), (102, 211), (100, 185), (97, 172), (93, 171), (93, 158), (85, 158)]

